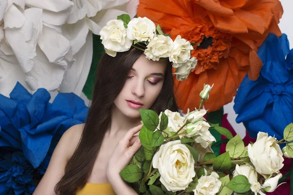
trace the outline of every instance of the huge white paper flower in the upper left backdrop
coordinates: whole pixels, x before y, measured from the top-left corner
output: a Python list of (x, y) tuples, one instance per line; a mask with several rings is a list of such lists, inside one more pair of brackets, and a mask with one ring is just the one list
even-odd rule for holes
[[(138, 0), (131, 0), (138, 1)], [(30, 92), (80, 95), (90, 69), (92, 33), (136, 14), (130, 0), (0, 0), (0, 94), (19, 81)]]

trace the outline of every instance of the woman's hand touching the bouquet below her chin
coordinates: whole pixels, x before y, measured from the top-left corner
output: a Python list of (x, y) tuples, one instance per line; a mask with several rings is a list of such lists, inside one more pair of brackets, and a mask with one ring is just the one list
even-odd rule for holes
[(129, 164), (132, 156), (140, 149), (142, 144), (139, 137), (134, 135), (138, 133), (142, 127), (143, 125), (141, 124), (130, 129), (126, 135), (118, 141), (107, 164), (106, 175), (109, 181), (119, 176), (119, 173)]

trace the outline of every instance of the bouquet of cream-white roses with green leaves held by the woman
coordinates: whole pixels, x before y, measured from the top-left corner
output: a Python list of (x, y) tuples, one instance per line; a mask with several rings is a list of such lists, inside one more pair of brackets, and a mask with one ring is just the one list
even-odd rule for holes
[[(211, 88), (204, 86), (200, 107)], [(245, 147), (239, 135), (233, 137), (228, 129), (206, 121), (203, 109), (184, 117), (169, 110), (160, 116), (152, 110), (140, 113), (142, 147), (120, 173), (138, 194), (264, 195), (278, 186), (283, 155), (293, 157), (292, 123), (285, 128), (284, 139), (259, 132), (256, 142)], [(210, 148), (215, 141), (210, 129), (229, 139), (220, 156)], [(286, 144), (284, 154), (279, 144)]]

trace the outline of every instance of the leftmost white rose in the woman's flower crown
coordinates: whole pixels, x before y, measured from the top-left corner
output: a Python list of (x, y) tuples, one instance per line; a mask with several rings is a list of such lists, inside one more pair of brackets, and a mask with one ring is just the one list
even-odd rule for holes
[(122, 20), (108, 21), (106, 26), (100, 31), (100, 35), (105, 49), (113, 52), (128, 51), (133, 42), (127, 38)]

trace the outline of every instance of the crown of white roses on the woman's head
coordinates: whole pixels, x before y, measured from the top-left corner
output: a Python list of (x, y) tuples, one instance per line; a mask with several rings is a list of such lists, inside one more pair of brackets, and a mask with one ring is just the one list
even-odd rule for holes
[(182, 39), (180, 35), (173, 41), (170, 35), (164, 34), (159, 24), (148, 18), (135, 17), (130, 20), (129, 15), (123, 14), (117, 20), (110, 20), (100, 31), (105, 52), (112, 57), (117, 52), (126, 52), (133, 46), (144, 51), (147, 59), (158, 61), (169, 59), (176, 79), (182, 81), (188, 78), (191, 70), (195, 68), (197, 59), (191, 58), (194, 43)]

